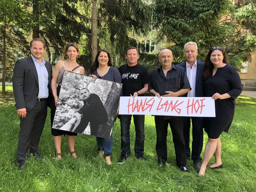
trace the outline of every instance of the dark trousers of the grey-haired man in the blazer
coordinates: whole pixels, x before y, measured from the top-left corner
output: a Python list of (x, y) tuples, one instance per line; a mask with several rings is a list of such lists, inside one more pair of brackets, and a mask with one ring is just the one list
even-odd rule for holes
[[(204, 118), (191, 117), (192, 120), (192, 155), (191, 159), (194, 162), (201, 162), (200, 154), (203, 148), (204, 133), (203, 124)], [(190, 117), (183, 117), (183, 135), (186, 143), (186, 156), (190, 157)]]

